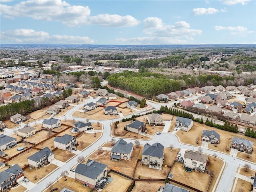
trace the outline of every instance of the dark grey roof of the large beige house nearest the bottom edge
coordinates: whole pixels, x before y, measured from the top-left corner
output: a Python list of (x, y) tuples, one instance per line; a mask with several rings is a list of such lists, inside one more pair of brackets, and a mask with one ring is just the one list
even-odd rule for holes
[(105, 164), (88, 159), (86, 164), (78, 164), (74, 172), (88, 178), (96, 179), (106, 167)]

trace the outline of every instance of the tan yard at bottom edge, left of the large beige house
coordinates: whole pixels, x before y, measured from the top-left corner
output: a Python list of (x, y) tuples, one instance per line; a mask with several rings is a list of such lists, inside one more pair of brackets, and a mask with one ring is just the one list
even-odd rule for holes
[(58, 182), (53, 184), (53, 188), (58, 188), (55, 192), (60, 192), (64, 187), (74, 191), (74, 192), (90, 192), (92, 190), (91, 188), (84, 187), (82, 183), (79, 181), (76, 181), (75, 179), (71, 177), (66, 177), (66, 181), (64, 181), (64, 178), (60, 178)]

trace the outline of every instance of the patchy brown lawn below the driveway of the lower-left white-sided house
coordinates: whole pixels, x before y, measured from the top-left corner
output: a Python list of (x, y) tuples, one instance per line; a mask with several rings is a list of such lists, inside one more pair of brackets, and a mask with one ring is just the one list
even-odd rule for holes
[[(58, 166), (54, 164), (49, 164), (48, 166), (42, 166), (40, 169), (30, 169), (26, 168), (25, 171), (25, 176), (28, 178), (33, 183), (36, 183), (40, 181), (40, 178), (44, 178), (47, 174), (52, 172), (54, 169), (56, 169)], [(37, 179), (35, 180), (34, 176), (37, 176)]]

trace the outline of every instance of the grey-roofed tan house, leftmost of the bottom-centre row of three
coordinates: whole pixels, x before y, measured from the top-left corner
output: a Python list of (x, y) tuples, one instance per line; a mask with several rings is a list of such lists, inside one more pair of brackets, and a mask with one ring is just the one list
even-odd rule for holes
[(112, 160), (130, 160), (133, 152), (132, 142), (127, 143), (125, 140), (118, 140), (110, 151)]

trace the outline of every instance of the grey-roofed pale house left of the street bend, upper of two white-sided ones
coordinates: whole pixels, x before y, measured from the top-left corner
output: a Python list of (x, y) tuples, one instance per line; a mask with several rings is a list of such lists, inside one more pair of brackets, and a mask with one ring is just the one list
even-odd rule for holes
[(77, 144), (76, 137), (68, 134), (64, 134), (61, 137), (56, 136), (54, 138), (54, 147), (58, 149), (68, 150), (70, 147), (73, 148)]

